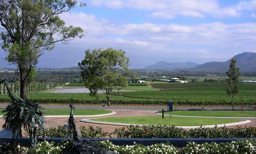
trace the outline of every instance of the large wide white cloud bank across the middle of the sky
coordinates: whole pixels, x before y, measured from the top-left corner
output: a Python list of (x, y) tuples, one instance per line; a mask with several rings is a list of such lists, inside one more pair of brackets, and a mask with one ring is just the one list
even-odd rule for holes
[[(107, 19), (97, 19), (84, 13), (67, 13), (61, 18), (67, 24), (81, 26), (88, 32), (82, 39), (73, 41), (83, 48), (81, 51), (112, 47), (123, 49), (129, 56), (139, 53), (172, 57), (175, 53), (195, 54), (201, 58), (218, 58), (224, 53), (234, 56), (234, 53), (255, 52), (255, 23), (113, 24)], [(187, 56), (189, 58), (192, 56)]]

